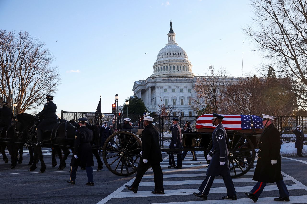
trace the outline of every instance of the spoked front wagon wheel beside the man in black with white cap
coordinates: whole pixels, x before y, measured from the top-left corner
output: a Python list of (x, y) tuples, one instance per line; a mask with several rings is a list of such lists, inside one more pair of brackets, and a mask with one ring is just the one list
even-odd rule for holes
[(104, 142), (103, 161), (112, 173), (130, 176), (137, 171), (141, 147), (142, 141), (136, 134), (115, 132)]

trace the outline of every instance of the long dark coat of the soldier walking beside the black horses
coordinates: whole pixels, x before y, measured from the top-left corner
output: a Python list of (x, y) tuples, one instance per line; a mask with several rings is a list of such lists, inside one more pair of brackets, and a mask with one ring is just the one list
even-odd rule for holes
[(70, 166), (94, 166), (93, 152), (90, 144), (92, 140), (93, 131), (88, 129), (86, 126), (81, 126), (78, 130), (76, 130), (74, 155), (76, 155), (78, 158), (76, 159), (74, 156), (72, 156)]

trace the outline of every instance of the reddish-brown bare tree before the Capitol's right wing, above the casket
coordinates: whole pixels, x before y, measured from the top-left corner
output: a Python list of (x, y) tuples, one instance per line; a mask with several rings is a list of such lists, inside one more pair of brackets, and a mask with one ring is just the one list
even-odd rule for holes
[(220, 67), (219, 70), (215, 70), (214, 66), (210, 65), (205, 71), (205, 77), (197, 79), (195, 91), (201, 106), (206, 107), (210, 104), (215, 112), (220, 111), (226, 92), (227, 75), (226, 69)]

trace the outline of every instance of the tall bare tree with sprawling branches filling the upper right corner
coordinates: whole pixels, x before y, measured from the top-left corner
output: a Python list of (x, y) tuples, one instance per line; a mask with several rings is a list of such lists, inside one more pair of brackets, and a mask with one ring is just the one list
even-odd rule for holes
[(244, 28), (256, 50), (291, 80), (290, 90), (301, 108), (307, 108), (306, 5), (306, 0), (251, 0), (254, 25)]

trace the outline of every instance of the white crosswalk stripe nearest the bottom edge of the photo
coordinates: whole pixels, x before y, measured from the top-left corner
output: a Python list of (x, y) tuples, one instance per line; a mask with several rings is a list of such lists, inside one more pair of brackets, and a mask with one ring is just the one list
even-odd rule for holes
[[(277, 197), (277, 196), (276, 196)], [(274, 198), (276, 197), (265, 197), (265, 198), (258, 198), (259, 203), (273, 203)], [(208, 196), (210, 199), (210, 196)], [(289, 196), (290, 201), (288, 202), (278, 202), (278, 203), (306, 203), (307, 195), (296, 195), (296, 196)], [(201, 199), (201, 198), (200, 198)], [(200, 200), (200, 201), (185, 201), (185, 202), (159, 202), (159, 203), (151, 203), (151, 204), (202, 204), (202, 203), (216, 203), (216, 204), (246, 204), (246, 203), (254, 203), (251, 201), (250, 198), (240, 198), (238, 200)]]

